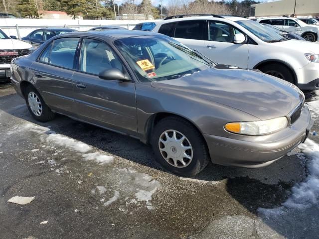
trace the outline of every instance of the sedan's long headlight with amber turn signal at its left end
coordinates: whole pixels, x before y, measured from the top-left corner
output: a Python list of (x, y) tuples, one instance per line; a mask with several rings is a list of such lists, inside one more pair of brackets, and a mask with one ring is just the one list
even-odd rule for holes
[(225, 124), (225, 129), (232, 133), (247, 135), (263, 135), (278, 131), (287, 127), (286, 117), (276, 119), (251, 121), (251, 122), (231, 122)]

